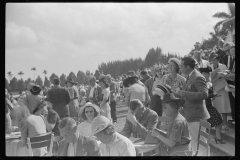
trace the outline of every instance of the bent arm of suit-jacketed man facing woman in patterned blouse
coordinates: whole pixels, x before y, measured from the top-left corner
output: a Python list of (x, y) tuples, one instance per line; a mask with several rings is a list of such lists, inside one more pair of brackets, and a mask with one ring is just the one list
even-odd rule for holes
[(200, 76), (195, 79), (194, 85), (198, 92), (189, 92), (180, 90), (178, 94), (186, 100), (204, 100), (208, 97), (207, 83), (204, 77)]

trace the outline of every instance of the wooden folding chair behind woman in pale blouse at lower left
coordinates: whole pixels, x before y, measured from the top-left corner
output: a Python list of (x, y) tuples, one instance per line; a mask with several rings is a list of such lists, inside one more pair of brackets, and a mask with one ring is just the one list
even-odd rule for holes
[(27, 137), (27, 146), (30, 155), (33, 157), (32, 149), (48, 147), (48, 156), (52, 156), (52, 148), (53, 148), (53, 133), (46, 133), (36, 137)]

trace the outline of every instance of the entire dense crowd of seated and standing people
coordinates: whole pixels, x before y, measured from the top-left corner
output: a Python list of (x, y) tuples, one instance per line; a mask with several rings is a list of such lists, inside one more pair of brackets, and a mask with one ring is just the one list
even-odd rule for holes
[[(54, 78), (50, 88), (29, 84), (18, 99), (5, 90), (5, 131), (21, 132), (21, 140), (6, 145), (7, 156), (29, 155), (26, 137), (54, 133), (56, 156), (136, 156), (130, 140), (148, 134), (159, 140), (158, 156), (194, 150), (200, 120), (216, 128), (216, 143), (225, 144), (227, 114), (235, 121), (235, 44), (227, 42), (204, 57), (170, 58), (168, 64), (130, 70), (116, 79), (90, 75), (89, 85), (69, 78), (66, 86)], [(116, 105), (128, 107), (122, 131), (117, 132)], [(169, 117), (167, 122), (158, 117)], [(165, 126), (165, 135), (158, 130)], [(34, 149), (44, 156), (46, 148)]]

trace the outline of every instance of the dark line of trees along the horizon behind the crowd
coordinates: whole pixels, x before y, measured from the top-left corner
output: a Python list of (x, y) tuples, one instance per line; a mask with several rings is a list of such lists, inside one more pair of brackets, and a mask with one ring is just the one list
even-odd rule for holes
[[(62, 74), (60, 77), (56, 75), (55, 73), (52, 73), (52, 75), (48, 78), (47, 70), (43, 71), (43, 74), (45, 74), (45, 80), (43, 81), (40, 76), (37, 76), (36, 80), (32, 80), (31, 78), (28, 78), (27, 80), (22, 79), (22, 74), (24, 74), (21, 71), (20, 79), (17, 79), (15, 76), (12, 78), (11, 72), (8, 72), (8, 77), (5, 78), (5, 88), (9, 91), (23, 91), (27, 89), (27, 85), (29, 83), (36, 83), (41, 87), (50, 87), (51, 82), (54, 77), (58, 77), (61, 80), (60, 86), (64, 87), (66, 80), (71, 77), (75, 82), (78, 82), (78, 84), (88, 84), (88, 77), (90, 75), (94, 75), (97, 79), (99, 78), (100, 74), (111, 74), (112, 77), (117, 78), (118, 76), (122, 76), (123, 74), (126, 74), (129, 70), (143, 70), (146, 68), (149, 68), (153, 66), (154, 64), (167, 64), (168, 60), (170, 58), (181, 58), (179, 54), (176, 53), (166, 53), (164, 54), (162, 52), (162, 49), (160, 47), (157, 47), (156, 49), (151, 48), (148, 53), (146, 54), (145, 59), (142, 58), (130, 58), (126, 60), (116, 60), (116, 61), (110, 61), (110, 62), (103, 62), (100, 65), (98, 65), (98, 69), (95, 71), (95, 73), (91, 73), (89, 70), (86, 72), (83, 72), (81, 70), (78, 71), (77, 75), (73, 72), (69, 73), (69, 75)], [(31, 70), (36, 71), (36, 67), (33, 67)], [(35, 77), (35, 73), (34, 73)]]

